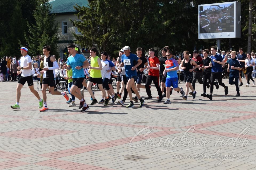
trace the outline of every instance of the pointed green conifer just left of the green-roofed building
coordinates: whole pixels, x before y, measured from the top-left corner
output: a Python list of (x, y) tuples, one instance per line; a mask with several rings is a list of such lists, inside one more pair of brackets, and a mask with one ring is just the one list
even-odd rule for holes
[(51, 54), (58, 57), (56, 44), (58, 41), (58, 24), (54, 24), (55, 15), (50, 15), (51, 5), (48, 0), (38, 0), (33, 17), (35, 24), (27, 21), (28, 33), (25, 32), (25, 40), (28, 44), (31, 55), (42, 54), (46, 45), (51, 46)]

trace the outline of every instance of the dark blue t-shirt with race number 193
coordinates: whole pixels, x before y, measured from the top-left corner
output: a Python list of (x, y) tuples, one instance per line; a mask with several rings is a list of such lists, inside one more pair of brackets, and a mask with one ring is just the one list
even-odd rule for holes
[(136, 69), (131, 70), (131, 68), (136, 65), (136, 61), (138, 61), (138, 60), (139, 60), (139, 58), (135, 54), (132, 54), (132, 53), (130, 53), (130, 56), (128, 56), (128, 57), (125, 54), (122, 55), (121, 62), (124, 63), (124, 65), (125, 65), (126, 77), (132, 77), (132, 76), (137, 75)]

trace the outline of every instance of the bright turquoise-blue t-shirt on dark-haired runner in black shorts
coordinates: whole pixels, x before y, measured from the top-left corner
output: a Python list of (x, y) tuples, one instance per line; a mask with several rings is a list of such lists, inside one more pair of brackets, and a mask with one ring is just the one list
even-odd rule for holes
[(85, 60), (86, 60), (85, 57), (81, 54), (76, 54), (74, 57), (69, 56), (69, 58), (67, 58), (67, 65), (69, 65), (73, 70), (72, 78), (85, 77), (83, 73), (83, 69), (80, 69), (80, 70), (75, 69), (76, 66), (82, 66)]

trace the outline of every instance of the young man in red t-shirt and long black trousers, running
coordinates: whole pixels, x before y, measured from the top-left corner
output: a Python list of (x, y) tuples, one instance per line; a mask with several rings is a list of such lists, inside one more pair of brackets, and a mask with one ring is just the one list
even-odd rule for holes
[(152, 99), (151, 90), (150, 90), (150, 84), (152, 81), (155, 84), (155, 88), (157, 89), (158, 97), (159, 99), (157, 101), (162, 101), (163, 94), (161, 91), (161, 88), (159, 86), (159, 59), (155, 57), (155, 50), (153, 48), (149, 49), (149, 66), (147, 66), (147, 69), (149, 69), (149, 75), (147, 76), (146, 80), (146, 92), (148, 97), (145, 97), (146, 100)]

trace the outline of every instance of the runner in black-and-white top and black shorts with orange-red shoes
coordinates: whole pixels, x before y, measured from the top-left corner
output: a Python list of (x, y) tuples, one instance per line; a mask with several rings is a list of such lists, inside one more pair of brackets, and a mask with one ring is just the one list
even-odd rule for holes
[(59, 92), (54, 91), (55, 86), (55, 69), (59, 69), (58, 63), (56, 59), (50, 55), (51, 47), (49, 45), (43, 47), (43, 55), (45, 55), (44, 61), (43, 61), (43, 69), (41, 71), (41, 74), (43, 74), (43, 80), (42, 80), (42, 94), (43, 94), (43, 105), (44, 107), (39, 110), (39, 112), (45, 112), (48, 111), (47, 107), (47, 97), (46, 97), (46, 89), (48, 86), (50, 86), (50, 91), (52, 95), (62, 95), (65, 97), (65, 99), (68, 101), (69, 96), (67, 95), (66, 91)]

